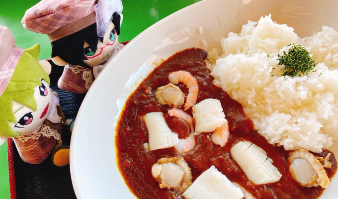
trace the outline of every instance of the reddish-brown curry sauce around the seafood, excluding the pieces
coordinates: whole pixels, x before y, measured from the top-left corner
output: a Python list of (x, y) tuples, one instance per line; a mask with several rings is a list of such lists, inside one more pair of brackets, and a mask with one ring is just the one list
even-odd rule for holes
[[(292, 178), (287, 161), (290, 151), (284, 150), (282, 146), (269, 144), (254, 129), (254, 123), (245, 115), (242, 105), (213, 84), (214, 79), (203, 61), (206, 56), (206, 51), (197, 48), (174, 54), (150, 73), (127, 99), (117, 124), (115, 144), (118, 167), (131, 192), (140, 199), (183, 199), (173, 190), (160, 189), (151, 172), (157, 160), (179, 156), (189, 164), (192, 182), (214, 165), (230, 181), (239, 183), (257, 199), (316, 199), (322, 195), (323, 188), (302, 187)], [(169, 73), (179, 70), (188, 71), (196, 78), (199, 86), (196, 103), (208, 98), (221, 101), (230, 130), (229, 140), (224, 147), (213, 144), (208, 134), (202, 133), (196, 136), (194, 149), (187, 153), (178, 154), (173, 147), (156, 151), (144, 148), (143, 144), (148, 142), (148, 130), (143, 116), (149, 112), (163, 112), (169, 128), (177, 133), (179, 138), (186, 138), (190, 133), (189, 125), (169, 116), (170, 107), (160, 104), (155, 98), (157, 88), (169, 84)], [(185, 86), (183, 84), (177, 86), (186, 97), (188, 91)], [(191, 108), (187, 112), (192, 115)], [(231, 147), (241, 140), (251, 141), (267, 153), (282, 175), (278, 182), (254, 185), (249, 181), (230, 155)], [(313, 154), (325, 158), (328, 153), (329, 150), (324, 150), (322, 153)], [(330, 156), (330, 162), (332, 167), (326, 169), (326, 172), (331, 179), (337, 171), (334, 155)]]

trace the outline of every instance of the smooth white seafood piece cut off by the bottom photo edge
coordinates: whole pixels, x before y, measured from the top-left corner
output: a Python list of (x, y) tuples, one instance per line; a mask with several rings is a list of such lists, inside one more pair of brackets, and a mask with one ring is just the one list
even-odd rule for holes
[(244, 194), (211, 166), (183, 193), (185, 199), (242, 199)]

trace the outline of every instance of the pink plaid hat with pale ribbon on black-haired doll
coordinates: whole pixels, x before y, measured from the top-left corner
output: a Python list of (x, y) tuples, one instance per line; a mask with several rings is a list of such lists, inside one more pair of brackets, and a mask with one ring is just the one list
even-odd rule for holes
[(41, 0), (26, 11), (21, 23), (28, 30), (47, 34), (51, 42), (95, 22), (98, 36), (103, 36), (112, 14), (122, 9), (121, 0)]

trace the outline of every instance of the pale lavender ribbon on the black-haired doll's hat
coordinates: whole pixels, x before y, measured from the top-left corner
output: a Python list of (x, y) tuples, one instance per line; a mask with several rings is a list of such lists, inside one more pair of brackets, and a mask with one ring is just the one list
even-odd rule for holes
[(114, 12), (122, 13), (123, 5), (121, 0), (100, 0), (95, 6), (96, 31), (99, 37), (103, 37), (107, 31), (109, 22)]

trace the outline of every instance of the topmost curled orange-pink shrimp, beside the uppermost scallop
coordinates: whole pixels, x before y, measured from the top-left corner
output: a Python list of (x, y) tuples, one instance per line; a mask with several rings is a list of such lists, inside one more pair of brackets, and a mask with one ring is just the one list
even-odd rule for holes
[(198, 96), (198, 83), (197, 80), (187, 71), (176, 71), (169, 74), (169, 82), (171, 84), (183, 83), (188, 88), (189, 93), (186, 97), (184, 110), (194, 106)]

